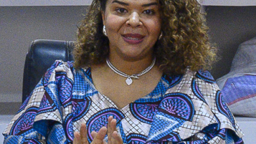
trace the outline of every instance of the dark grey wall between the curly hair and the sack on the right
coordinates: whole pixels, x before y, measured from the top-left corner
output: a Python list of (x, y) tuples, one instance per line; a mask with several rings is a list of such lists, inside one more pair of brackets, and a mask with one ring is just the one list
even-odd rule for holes
[(256, 37), (256, 7), (205, 7), (212, 43), (217, 44), (221, 60), (211, 74), (218, 79), (230, 71), (240, 43)]

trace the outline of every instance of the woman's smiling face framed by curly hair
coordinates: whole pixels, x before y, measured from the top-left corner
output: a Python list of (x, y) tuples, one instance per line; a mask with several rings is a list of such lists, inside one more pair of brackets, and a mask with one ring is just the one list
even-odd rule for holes
[(108, 0), (102, 12), (110, 56), (127, 60), (152, 57), (161, 33), (158, 0)]

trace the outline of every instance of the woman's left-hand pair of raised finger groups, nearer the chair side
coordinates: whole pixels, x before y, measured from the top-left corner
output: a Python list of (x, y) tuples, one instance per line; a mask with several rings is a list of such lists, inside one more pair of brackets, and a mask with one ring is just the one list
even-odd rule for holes
[[(91, 135), (93, 136), (93, 141), (91, 144), (104, 144), (103, 139), (106, 135), (107, 128), (103, 126), (100, 128), (98, 133), (92, 132)], [(89, 144), (89, 141), (87, 139), (87, 129), (85, 124), (81, 124), (80, 128), (80, 134), (79, 132), (74, 133), (74, 141), (73, 144)]]

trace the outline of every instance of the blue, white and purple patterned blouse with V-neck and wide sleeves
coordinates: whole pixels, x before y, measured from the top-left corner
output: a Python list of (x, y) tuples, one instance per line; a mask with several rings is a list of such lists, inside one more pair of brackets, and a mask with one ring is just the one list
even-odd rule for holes
[(123, 143), (244, 143), (207, 71), (163, 74), (150, 94), (118, 109), (96, 90), (90, 67), (77, 70), (60, 60), (12, 118), (4, 143), (72, 143), (82, 123), (91, 142), (91, 132), (106, 126), (110, 116)]

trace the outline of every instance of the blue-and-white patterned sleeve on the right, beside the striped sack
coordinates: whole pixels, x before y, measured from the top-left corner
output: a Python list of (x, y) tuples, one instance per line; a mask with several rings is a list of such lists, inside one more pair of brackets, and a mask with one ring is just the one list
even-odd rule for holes
[[(205, 100), (217, 124), (206, 126), (191, 139), (204, 143), (244, 143), (242, 140), (244, 134), (209, 71), (197, 71), (192, 88), (195, 95), (200, 95)], [(203, 140), (200, 137), (203, 137)]]

